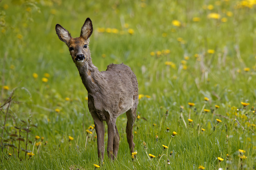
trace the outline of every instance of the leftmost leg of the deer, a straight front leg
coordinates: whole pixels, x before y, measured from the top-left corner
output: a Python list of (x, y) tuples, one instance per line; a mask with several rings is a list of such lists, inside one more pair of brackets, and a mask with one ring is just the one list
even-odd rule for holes
[(105, 151), (105, 147), (104, 147), (104, 122), (102, 120), (100, 120), (100, 118), (97, 116), (97, 114), (91, 113), (92, 114), (92, 118), (94, 121), (94, 125), (95, 125), (95, 130), (96, 130), (96, 134), (97, 134), (97, 149), (98, 149), (98, 158), (100, 160), (100, 164), (103, 163), (103, 159), (104, 159), (104, 151)]

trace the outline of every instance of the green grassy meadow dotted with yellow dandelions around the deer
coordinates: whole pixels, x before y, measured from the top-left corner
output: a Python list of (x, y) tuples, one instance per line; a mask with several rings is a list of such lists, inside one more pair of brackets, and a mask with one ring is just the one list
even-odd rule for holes
[[(97, 158), (87, 91), (55, 33), (90, 17), (92, 62), (137, 76), (135, 155), (126, 114), (116, 161)], [(0, 169), (256, 167), (256, 0), (2, 0)], [(105, 123), (105, 150), (107, 125)]]

